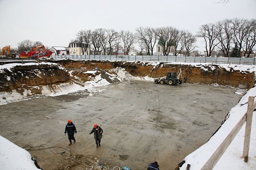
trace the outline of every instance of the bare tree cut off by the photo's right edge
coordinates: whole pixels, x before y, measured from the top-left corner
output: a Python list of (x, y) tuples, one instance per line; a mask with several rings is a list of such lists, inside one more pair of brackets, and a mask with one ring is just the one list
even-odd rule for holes
[(256, 19), (249, 21), (249, 33), (245, 36), (243, 42), (245, 42), (245, 54), (247, 57), (253, 52), (253, 48), (256, 45)]

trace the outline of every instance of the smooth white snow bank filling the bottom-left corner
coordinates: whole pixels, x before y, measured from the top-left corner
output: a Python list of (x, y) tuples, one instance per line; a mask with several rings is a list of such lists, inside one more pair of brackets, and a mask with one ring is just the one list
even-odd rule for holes
[(0, 169), (36, 170), (28, 151), (0, 136)]

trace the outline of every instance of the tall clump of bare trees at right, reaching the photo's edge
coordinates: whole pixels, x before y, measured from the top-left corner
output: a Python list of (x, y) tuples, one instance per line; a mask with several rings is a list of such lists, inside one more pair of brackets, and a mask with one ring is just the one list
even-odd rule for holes
[(237, 44), (243, 56), (249, 57), (256, 44), (256, 19), (225, 19), (217, 23), (201, 25), (197, 37), (205, 41), (207, 56), (219, 49), (224, 57), (230, 54)]

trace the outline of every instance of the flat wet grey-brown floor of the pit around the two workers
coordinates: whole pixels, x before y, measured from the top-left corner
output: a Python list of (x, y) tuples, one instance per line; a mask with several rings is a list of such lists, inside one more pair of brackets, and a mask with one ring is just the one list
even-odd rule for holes
[[(229, 87), (176, 86), (142, 80), (125, 81), (88, 91), (41, 97), (0, 106), (0, 135), (16, 145), (56, 146), (73, 155), (96, 157), (102, 165), (146, 169), (157, 161), (175, 169), (185, 156), (206, 143), (241, 95)], [(77, 143), (68, 146), (67, 120), (76, 125)], [(93, 124), (104, 130), (96, 148)], [(61, 152), (61, 148), (53, 152)], [(30, 151), (43, 169), (67, 164), (60, 154)]]

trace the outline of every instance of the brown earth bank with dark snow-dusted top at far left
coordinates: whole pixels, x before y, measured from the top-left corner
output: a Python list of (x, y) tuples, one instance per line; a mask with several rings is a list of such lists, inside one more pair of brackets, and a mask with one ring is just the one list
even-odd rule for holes
[(42, 94), (42, 86), (71, 82), (67, 70), (58, 65), (15, 66), (1, 70), (0, 79), (0, 92), (16, 90), (20, 94), (25, 90)]

